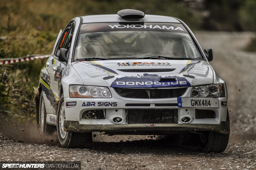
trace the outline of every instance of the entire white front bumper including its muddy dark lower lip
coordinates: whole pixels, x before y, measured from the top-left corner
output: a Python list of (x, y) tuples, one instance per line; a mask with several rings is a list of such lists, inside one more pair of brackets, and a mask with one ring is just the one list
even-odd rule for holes
[[(190, 96), (191, 89), (192, 87), (188, 87), (187, 91), (181, 96), (182, 98), (124, 98), (118, 95), (112, 88), (110, 88), (112, 98), (64, 98), (66, 105), (67, 103), (75, 103), (75, 106), (65, 108), (66, 120), (64, 121), (64, 130), (69, 132), (105, 132), (105, 134), (131, 135), (160, 135), (192, 131), (213, 131), (229, 134), (230, 126), (229, 122), (226, 122), (227, 105), (222, 104), (224, 102), (227, 103), (227, 97), (213, 99), (186, 97)], [(201, 105), (199, 105), (200, 101), (196, 104), (195, 99), (201, 99)], [(203, 101), (209, 101), (208, 99), (211, 99), (211, 105), (203, 105)], [(206, 103), (208, 104), (208, 102)], [(105, 119), (82, 118), (85, 111), (100, 109), (106, 111)], [(128, 115), (130, 115), (129, 110), (131, 109), (155, 110), (154, 113), (162, 113), (163, 110), (175, 110), (178, 120), (177, 123), (157, 122), (154, 120), (131, 123), (128, 119)], [(211, 118), (198, 118), (197, 111), (200, 110), (213, 111), (216, 115)], [(147, 113), (152, 116), (150, 111)], [(145, 113), (145, 115), (148, 114)], [(123, 121), (115, 123), (113, 121), (114, 117), (121, 117)], [(137, 112), (134, 114), (134, 117), (137, 117)], [(182, 122), (183, 117), (189, 117), (190, 121)], [(139, 120), (143, 120), (145, 117), (139, 118)], [(162, 120), (162, 118), (158, 117), (155, 120)], [(165, 118), (168, 118), (168, 116)]]

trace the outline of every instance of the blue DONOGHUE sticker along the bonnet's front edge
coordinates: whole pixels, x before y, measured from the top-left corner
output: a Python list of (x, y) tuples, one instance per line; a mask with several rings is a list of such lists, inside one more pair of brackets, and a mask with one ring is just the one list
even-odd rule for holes
[[(139, 76), (139, 75), (138, 75)], [(122, 77), (117, 78), (111, 84), (111, 87), (182, 87), (190, 86), (189, 81), (184, 77), (165, 77), (166, 81), (159, 81), (162, 78), (159, 75), (143, 74), (140, 77)]]

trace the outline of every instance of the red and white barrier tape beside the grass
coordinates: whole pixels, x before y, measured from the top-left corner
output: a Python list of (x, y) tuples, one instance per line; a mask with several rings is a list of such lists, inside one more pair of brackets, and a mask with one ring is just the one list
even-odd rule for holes
[(43, 59), (43, 58), (47, 58), (49, 56), (50, 55), (45, 55), (45, 56), (28, 55), (28, 56), (24, 56), (24, 57), (20, 57), (20, 58), (16, 58), (16, 59), (0, 59), (0, 65)]

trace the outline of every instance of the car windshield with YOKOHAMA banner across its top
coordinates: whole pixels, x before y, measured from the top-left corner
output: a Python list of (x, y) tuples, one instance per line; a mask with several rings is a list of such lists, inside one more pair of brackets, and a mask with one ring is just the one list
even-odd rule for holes
[(74, 59), (142, 59), (155, 56), (161, 59), (203, 59), (187, 30), (177, 23), (82, 24)]

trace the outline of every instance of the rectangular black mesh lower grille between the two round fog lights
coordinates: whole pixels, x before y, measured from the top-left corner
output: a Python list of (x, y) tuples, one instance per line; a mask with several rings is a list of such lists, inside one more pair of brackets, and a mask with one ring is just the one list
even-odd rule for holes
[(126, 123), (178, 123), (177, 109), (126, 109)]

